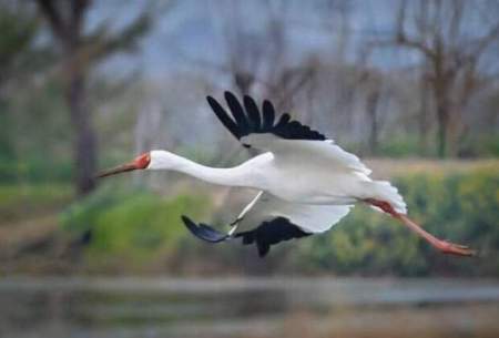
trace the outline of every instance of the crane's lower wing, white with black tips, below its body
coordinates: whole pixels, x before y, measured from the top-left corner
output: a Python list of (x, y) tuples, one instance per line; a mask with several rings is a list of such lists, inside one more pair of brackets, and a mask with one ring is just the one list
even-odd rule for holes
[(272, 245), (328, 231), (348, 214), (352, 205), (312, 205), (282, 201), (259, 193), (240, 214), (236, 228), (221, 233), (207, 224), (195, 224), (182, 216), (185, 226), (196, 237), (211, 243), (242, 238), (244, 245), (255, 244), (261, 257)]

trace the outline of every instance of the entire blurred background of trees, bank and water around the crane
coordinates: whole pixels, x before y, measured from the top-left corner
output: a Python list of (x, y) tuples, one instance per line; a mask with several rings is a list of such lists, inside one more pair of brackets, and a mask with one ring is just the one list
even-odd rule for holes
[[(499, 2), (0, 0), (0, 337), (498, 337)], [(206, 95), (271, 99), (393, 181), (442, 256), (357, 206), (259, 259), (193, 238), (251, 193)]]

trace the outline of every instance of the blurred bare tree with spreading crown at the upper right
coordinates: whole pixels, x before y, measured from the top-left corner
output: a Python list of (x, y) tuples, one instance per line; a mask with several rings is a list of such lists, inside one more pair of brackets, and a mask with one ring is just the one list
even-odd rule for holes
[[(482, 2), (497, 12), (497, 3)], [(410, 7), (410, 16), (408, 8)], [(438, 154), (448, 155), (461, 129), (460, 113), (483, 83), (480, 61), (498, 42), (499, 22), (464, 28), (471, 16), (480, 16), (480, 6), (464, 0), (403, 1), (393, 43), (419, 52), (426, 64), (424, 81), (432, 92), (437, 121)], [(496, 14), (497, 18), (497, 14)]]

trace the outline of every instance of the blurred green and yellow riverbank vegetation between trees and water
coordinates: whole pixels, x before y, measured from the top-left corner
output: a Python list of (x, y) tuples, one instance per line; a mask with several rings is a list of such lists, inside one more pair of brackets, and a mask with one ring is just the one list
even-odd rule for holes
[(411, 217), (480, 256), (442, 256), (396, 221), (358, 205), (333, 231), (285, 243), (259, 259), (237, 240), (212, 246), (184, 228), (182, 214), (223, 224), (241, 208), (210, 188), (179, 187), (175, 180), (175, 193), (162, 195), (109, 184), (71, 203), (70, 186), (54, 183), (0, 187), (3, 273), (499, 276), (497, 161), (419, 164), (404, 175), (397, 161), (373, 165), (391, 167)]

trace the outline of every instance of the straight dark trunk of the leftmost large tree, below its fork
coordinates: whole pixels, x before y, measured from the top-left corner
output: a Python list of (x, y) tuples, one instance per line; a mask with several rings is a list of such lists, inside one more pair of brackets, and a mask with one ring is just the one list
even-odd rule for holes
[(85, 98), (83, 73), (70, 66), (67, 100), (74, 132), (74, 172), (78, 195), (85, 195), (95, 187), (96, 142)]

